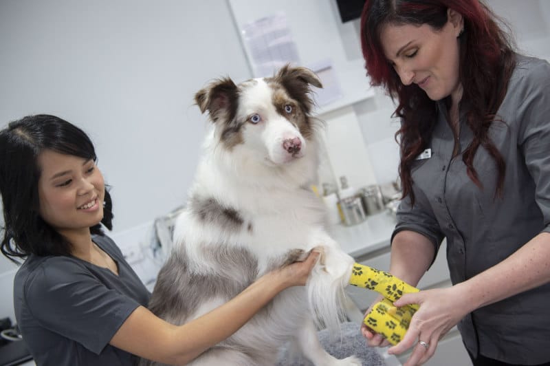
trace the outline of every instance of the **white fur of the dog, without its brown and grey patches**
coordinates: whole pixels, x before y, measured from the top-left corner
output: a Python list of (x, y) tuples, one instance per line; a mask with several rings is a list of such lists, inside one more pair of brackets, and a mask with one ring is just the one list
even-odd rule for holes
[[(224, 206), (234, 208), (253, 229), (229, 230), (203, 223), (192, 212), (184, 212), (175, 225), (175, 250), (183, 250), (190, 270), (204, 275), (215, 274), (219, 266), (199, 246), (204, 243), (242, 246), (258, 260), (259, 275), (272, 259), (289, 250), (321, 247), (324, 251), (305, 288), (289, 288), (270, 303), (230, 340), (244, 347), (262, 350), (270, 365), (276, 349), (294, 339), (298, 348), (316, 365), (361, 365), (354, 357), (336, 360), (318, 343), (316, 324), (336, 330), (341, 319), (340, 298), (351, 275), (353, 258), (340, 250), (329, 237), (325, 206), (309, 189), (316, 182), (320, 124), (314, 138), (306, 140), (296, 127), (272, 104), (272, 89), (262, 79), (239, 96), (237, 119), (259, 114), (261, 122), (247, 123), (241, 131), (244, 142), (226, 149), (221, 143), (223, 125), (217, 122), (204, 144), (190, 195), (213, 197)], [(312, 121), (313, 122), (313, 121)], [(298, 138), (301, 149), (294, 155), (283, 149), (286, 139)], [(219, 303), (203, 303), (193, 318)], [(308, 305), (309, 304), (309, 305)], [(191, 365), (240, 365), (250, 360), (239, 352), (206, 352)]]

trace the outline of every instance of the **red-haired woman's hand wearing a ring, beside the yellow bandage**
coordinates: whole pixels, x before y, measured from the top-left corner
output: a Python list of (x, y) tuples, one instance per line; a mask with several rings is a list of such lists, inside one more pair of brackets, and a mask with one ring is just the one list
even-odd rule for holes
[(467, 298), (457, 286), (404, 294), (401, 299), (394, 302), (395, 306), (417, 303), (420, 308), (412, 316), (404, 338), (397, 345), (390, 347), (388, 354), (401, 354), (414, 347), (404, 366), (425, 363), (433, 356), (441, 337), (473, 310)]

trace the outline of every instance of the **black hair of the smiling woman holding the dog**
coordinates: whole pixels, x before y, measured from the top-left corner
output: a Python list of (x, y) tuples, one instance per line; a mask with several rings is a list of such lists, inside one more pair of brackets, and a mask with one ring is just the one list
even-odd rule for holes
[[(0, 131), (0, 193), (4, 227), (0, 250), (5, 257), (69, 255), (71, 244), (39, 214), (38, 157), (45, 149), (97, 161), (94, 144), (86, 133), (56, 116), (26, 116)], [(106, 186), (107, 187), (107, 186)], [(105, 189), (103, 224), (112, 229), (111, 195)], [(103, 235), (101, 224), (90, 233)]]

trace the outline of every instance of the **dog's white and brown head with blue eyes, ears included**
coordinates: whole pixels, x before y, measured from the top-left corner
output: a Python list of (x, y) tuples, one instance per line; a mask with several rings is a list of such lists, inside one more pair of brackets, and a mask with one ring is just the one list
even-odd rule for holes
[(225, 149), (244, 149), (266, 164), (280, 165), (305, 155), (313, 137), (310, 85), (322, 87), (314, 72), (287, 65), (272, 78), (239, 85), (230, 78), (217, 80), (197, 92), (195, 101), (201, 112), (208, 110)]

